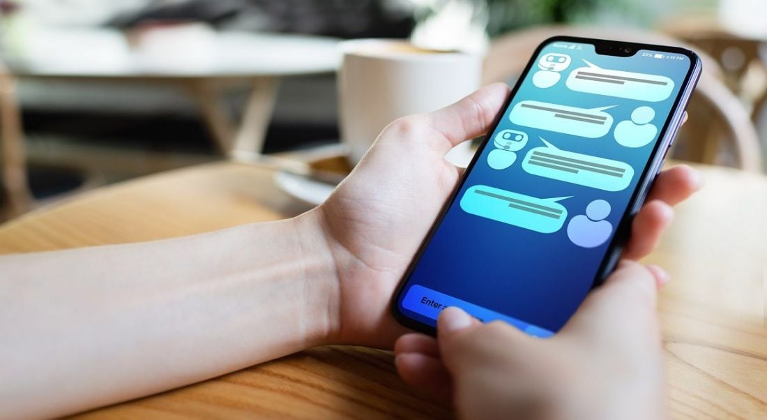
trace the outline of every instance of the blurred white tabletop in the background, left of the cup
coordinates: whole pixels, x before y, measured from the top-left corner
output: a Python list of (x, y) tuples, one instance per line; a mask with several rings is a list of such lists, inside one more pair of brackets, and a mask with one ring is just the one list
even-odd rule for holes
[(107, 28), (39, 29), (7, 51), (13, 74), (34, 78), (244, 78), (336, 71), (336, 38), (216, 32), (206, 27), (151, 31), (131, 46)]

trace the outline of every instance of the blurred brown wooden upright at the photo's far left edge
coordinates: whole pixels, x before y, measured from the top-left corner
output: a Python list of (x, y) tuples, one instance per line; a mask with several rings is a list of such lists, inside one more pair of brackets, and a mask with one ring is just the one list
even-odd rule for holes
[(0, 150), (2, 150), (2, 184), (8, 202), (9, 217), (31, 208), (24, 155), (21, 111), (15, 98), (15, 81), (0, 62)]

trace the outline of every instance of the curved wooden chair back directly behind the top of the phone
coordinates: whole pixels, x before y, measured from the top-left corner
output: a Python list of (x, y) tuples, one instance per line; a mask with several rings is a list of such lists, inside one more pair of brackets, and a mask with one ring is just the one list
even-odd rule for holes
[[(623, 28), (538, 26), (515, 31), (493, 41), (486, 61), (484, 81), (510, 81), (518, 77), (541, 41), (555, 35), (586, 38), (620, 39), (650, 44), (683, 45), (668, 36)], [(686, 48), (695, 49), (689, 45)], [(759, 136), (749, 112), (722, 82), (723, 74), (716, 61), (705, 54), (696, 94), (688, 106), (690, 121), (680, 131), (674, 156), (706, 164), (732, 164), (742, 170), (762, 170)], [(722, 152), (721, 139), (729, 138), (731, 154)], [(727, 161), (732, 157), (731, 161)]]

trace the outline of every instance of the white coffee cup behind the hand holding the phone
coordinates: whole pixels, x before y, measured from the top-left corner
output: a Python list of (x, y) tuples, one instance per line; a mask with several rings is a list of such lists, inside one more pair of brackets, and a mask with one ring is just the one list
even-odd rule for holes
[[(391, 121), (452, 104), (479, 88), (482, 78), (481, 55), (393, 39), (344, 41), (341, 48), (341, 140), (354, 164)], [(448, 154), (459, 165), (470, 157), (468, 142)]]

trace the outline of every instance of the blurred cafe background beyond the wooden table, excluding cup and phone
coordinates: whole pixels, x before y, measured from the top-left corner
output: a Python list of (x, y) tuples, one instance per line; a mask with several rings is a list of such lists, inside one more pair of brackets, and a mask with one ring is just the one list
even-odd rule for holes
[(410, 38), (513, 83), (549, 35), (683, 43), (706, 74), (673, 157), (761, 171), (767, 2), (0, 0), (3, 217), (232, 157), (338, 147), (337, 42)]

